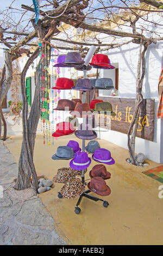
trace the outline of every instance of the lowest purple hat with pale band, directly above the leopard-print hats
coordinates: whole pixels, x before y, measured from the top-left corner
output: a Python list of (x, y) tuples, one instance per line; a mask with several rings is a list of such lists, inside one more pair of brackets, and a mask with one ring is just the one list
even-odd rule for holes
[(75, 154), (74, 159), (70, 161), (70, 167), (74, 170), (84, 170), (89, 167), (90, 164), (91, 159), (87, 156), (87, 153), (80, 151), (78, 151)]

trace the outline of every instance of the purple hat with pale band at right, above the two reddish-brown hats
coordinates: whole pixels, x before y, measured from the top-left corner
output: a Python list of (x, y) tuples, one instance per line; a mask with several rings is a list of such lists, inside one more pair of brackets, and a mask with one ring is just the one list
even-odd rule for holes
[(92, 159), (99, 163), (105, 163), (105, 164), (115, 163), (108, 149), (96, 149), (95, 153), (92, 155)]

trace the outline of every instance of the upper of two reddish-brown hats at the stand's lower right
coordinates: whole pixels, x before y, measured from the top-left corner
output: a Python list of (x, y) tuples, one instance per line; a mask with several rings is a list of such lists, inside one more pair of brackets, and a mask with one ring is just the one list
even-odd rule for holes
[(96, 166), (93, 166), (93, 168), (90, 170), (89, 174), (90, 178), (101, 177), (104, 180), (110, 179), (111, 176), (111, 173), (107, 172), (104, 164), (96, 164)]

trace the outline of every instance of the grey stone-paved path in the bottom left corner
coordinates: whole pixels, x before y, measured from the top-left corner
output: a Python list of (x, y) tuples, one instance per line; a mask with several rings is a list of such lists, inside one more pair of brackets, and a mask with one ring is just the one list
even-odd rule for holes
[(65, 245), (36, 192), (14, 190), (18, 166), (2, 141), (0, 156), (0, 245)]

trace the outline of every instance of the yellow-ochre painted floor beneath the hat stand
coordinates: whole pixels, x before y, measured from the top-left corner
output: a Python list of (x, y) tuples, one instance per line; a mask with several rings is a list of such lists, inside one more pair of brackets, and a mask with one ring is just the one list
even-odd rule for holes
[[(59, 145), (66, 145), (70, 139), (76, 139), (82, 147), (82, 141), (74, 135), (60, 137), (54, 146), (43, 145), (42, 135), (37, 135), (34, 163), (39, 176), (52, 179), (58, 168), (69, 166), (69, 161), (54, 161), (51, 156)], [(5, 142), (17, 162), (21, 143), (22, 136), (14, 136)], [(111, 172), (111, 179), (106, 180), (111, 194), (101, 197), (110, 205), (104, 208), (101, 201), (83, 198), (82, 211), (76, 215), (74, 206), (78, 199), (59, 199), (58, 191), (64, 184), (54, 184), (53, 190), (42, 193), (40, 198), (54, 217), (59, 235), (68, 245), (162, 245), (163, 199), (158, 197), (158, 188), (162, 184), (142, 173), (160, 164), (149, 161), (148, 167), (133, 166), (126, 162), (128, 150), (102, 139), (99, 143), (101, 148), (111, 151), (116, 162), (112, 166), (106, 165)], [(95, 164), (92, 160), (85, 179), (89, 179), (89, 170)]]

